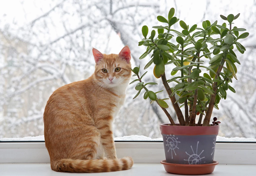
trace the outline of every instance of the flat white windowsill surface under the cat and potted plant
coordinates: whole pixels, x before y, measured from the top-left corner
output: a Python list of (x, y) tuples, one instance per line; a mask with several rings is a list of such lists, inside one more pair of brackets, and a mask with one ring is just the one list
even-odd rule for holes
[[(235, 165), (235, 164), (219, 164), (215, 167), (213, 176), (252, 176), (255, 175), (256, 165)], [(19, 164), (0, 164), (1, 175), (94, 175), (94, 176), (163, 176), (163, 175), (176, 175), (169, 174), (164, 170), (164, 166), (158, 163), (135, 163), (130, 170), (117, 171), (117, 172), (104, 172), (104, 173), (61, 173), (52, 171), (49, 163), (19, 163)]]

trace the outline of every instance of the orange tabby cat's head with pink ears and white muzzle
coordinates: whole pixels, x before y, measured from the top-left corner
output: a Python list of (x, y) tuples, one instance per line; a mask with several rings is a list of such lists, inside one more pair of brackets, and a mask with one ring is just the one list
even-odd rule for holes
[(99, 85), (116, 87), (127, 85), (131, 77), (131, 51), (125, 46), (119, 54), (102, 54), (92, 49), (95, 60), (94, 78)]

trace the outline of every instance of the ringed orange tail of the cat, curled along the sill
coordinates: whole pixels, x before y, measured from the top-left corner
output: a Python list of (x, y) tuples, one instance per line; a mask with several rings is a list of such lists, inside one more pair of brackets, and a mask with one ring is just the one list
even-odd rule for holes
[(51, 162), (51, 169), (57, 172), (111, 172), (130, 169), (131, 157), (120, 159), (73, 160), (60, 159)]

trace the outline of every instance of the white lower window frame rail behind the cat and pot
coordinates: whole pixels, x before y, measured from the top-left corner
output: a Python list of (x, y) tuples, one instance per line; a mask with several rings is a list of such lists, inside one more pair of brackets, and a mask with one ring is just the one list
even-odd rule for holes
[[(115, 141), (119, 158), (131, 156), (135, 163), (159, 163), (165, 159), (160, 141)], [(0, 163), (49, 163), (44, 141), (0, 142)], [(256, 142), (216, 142), (214, 160), (220, 164), (256, 164)]]

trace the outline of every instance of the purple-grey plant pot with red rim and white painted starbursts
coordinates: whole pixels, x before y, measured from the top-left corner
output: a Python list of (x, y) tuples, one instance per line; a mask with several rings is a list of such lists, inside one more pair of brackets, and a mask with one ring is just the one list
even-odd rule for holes
[(209, 164), (213, 162), (219, 125), (169, 126), (161, 124), (166, 162), (176, 164)]

